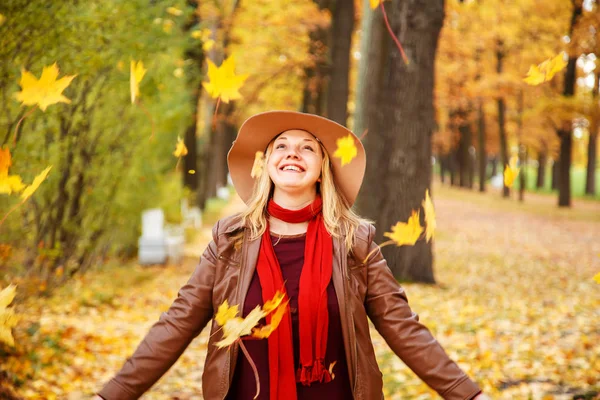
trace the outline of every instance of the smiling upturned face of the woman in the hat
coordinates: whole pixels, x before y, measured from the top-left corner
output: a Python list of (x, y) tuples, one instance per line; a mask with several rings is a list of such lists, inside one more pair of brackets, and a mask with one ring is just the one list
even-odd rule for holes
[(274, 196), (279, 192), (314, 198), (322, 162), (321, 146), (313, 135), (296, 129), (283, 132), (275, 139), (267, 162)]

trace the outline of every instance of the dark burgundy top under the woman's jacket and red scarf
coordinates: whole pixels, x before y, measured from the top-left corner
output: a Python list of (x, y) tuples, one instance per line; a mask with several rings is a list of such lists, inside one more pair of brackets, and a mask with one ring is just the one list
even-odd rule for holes
[[(281, 266), (285, 289), (290, 297), (290, 312), (292, 314), (292, 337), (294, 346), (295, 369), (299, 367), (300, 339), (298, 328), (298, 290), (300, 273), (304, 264), (304, 243), (306, 234), (282, 237), (271, 235), (271, 242), (275, 249), (275, 255)], [(329, 328), (327, 336), (327, 351), (325, 353), (324, 365), (337, 361), (333, 367), (335, 378), (329, 383), (313, 383), (310, 386), (296, 384), (298, 400), (347, 400), (352, 398), (350, 380), (348, 378), (348, 365), (344, 351), (344, 339), (342, 337), (342, 322), (340, 310), (333, 287), (333, 281), (327, 286), (327, 310), (329, 311)], [(245, 317), (257, 305), (262, 305), (262, 291), (258, 273), (255, 271), (246, 295), (242, 315)], [(263, 321), (264, 323), (264, 321)], [(260, 377), (260, 395), (257, 400), (270, 400), (269, 389), (269, 350), (267, 339), (244, 340), (248, 353), (256, 364), (258, 376)], [(256, 379), (248, 360), (240, 350), (233, 376), (233, 382), (227, 400), (250, 400), (256, 394)]]

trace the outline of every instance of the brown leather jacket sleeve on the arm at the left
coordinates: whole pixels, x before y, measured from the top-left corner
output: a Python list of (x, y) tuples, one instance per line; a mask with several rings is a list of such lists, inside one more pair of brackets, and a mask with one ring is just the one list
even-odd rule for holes
[(139, 398), (171, 368), (213, 316), (218, 223), (213, 240), (167, 312), (150, 328), (121, 370), (98, 393), (106, 400)]

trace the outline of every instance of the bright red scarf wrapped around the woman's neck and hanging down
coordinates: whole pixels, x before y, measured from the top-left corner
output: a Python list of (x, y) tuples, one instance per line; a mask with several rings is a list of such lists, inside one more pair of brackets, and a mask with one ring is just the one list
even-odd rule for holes
[[(331, 280), (333, 240), (325, 229), (322, 204), (321, 197), (317, 197), (301, 210), (287, 210), (273, 200), (267, 207), (270, 215), (282, 221), (309, 221), (298, 294), (300, 368), (294, 372), (292, 320), (288, 310), (279, 327), (268, 338), (271, 400), (295, 400), (296, 381), (303, 385), (331, 381), (331, 374), (323, 360), (327, 348), (327, 286)], [(263, 301), (270, 300), (277, 290), (285, 286), (268, 224), (262, 236), (256, 268)]]

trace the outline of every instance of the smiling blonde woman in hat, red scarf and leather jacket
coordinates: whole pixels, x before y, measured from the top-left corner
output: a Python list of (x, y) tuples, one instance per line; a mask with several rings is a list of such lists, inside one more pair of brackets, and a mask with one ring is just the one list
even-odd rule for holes
[[(331, 156), (348, 135), (357, 156), (342, 166)], [(258, 151), (264, 159), (255, 163)], [(375, 228), (351, 209), (366, 165), (356, 136), (316, 115), (266, 112), (242, 125), (228, 165), (247, 209), (214, 226), (177, 299), (97, 398), (138, 398), (225, 300), (246, 316), (283, 289), (289, 308), (279, 327), (268, 339), (244, 342), (258, 369), (259, 399), (382, 399), (368, 319), (440, 396), (487, 399), (411, 311), (373, 242)], [(219, 329), (213, 321), (203, 398), (252, 399), (253, 370), (238, 345), (215, 346)]]

